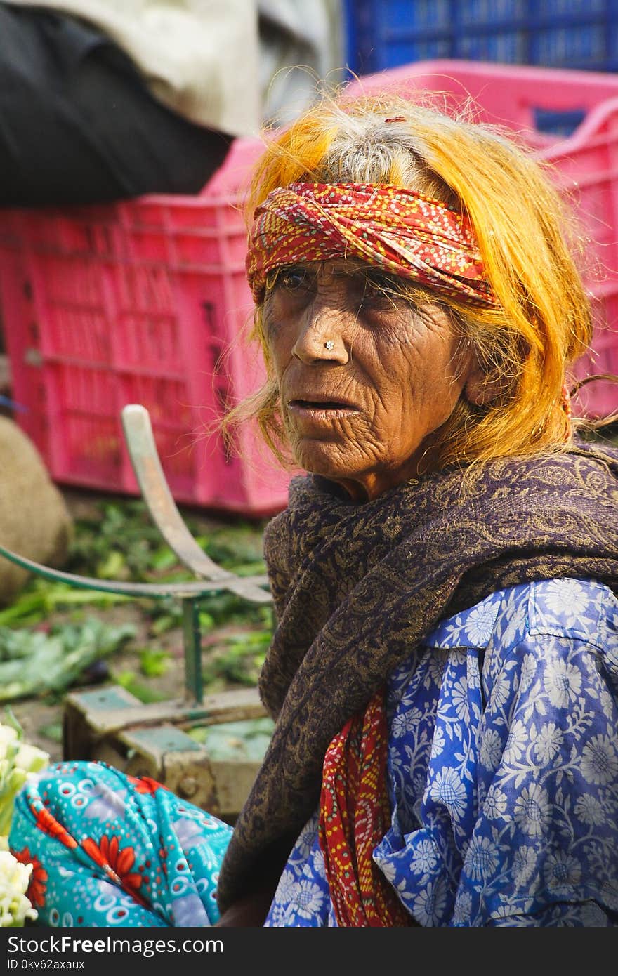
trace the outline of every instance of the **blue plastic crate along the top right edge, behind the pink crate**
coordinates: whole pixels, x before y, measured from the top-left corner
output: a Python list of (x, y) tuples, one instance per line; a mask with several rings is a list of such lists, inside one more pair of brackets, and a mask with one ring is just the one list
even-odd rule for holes
[(437, 58), (618, 69), (618, 0), (344, 0), (350, 72)]

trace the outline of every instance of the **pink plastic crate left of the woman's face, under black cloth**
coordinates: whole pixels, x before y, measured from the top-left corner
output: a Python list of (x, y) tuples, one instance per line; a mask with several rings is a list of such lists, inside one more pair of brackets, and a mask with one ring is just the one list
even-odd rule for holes
[(0, 214), (0, 293), (21, 427), (55, 480), (138, 493), (120, 415), (149, 411), (179, 502), (262, 516), (290, 475), (244, 429), (237, 450), (207, 427), (256, 389), (243, 341), (253, 301), (240, 207), (263, 149), (238, 141), (195, 197)]

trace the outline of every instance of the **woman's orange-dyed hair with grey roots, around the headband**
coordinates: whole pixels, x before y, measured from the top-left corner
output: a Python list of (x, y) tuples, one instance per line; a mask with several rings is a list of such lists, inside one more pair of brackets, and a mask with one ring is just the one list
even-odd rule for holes
[[(413, 284), (409, 288), (413, 305), (434, 301), (449, 310), (493, 391), (483, 407), (462, 396), (440, 430), (438, 467), (560, 450), (571, 442), (579, 422), (563, 409), (561, 390), (591, 341), (591, 307), (574, 259), (573, 218), (550, 175), (513, 135), (427, 100), (391, 94), (325, 98), (267, 142), (248, 195), (248, 219), (272, 189), (295, 181), (393, 183), (434, 196), (471, 219), (500, 307), (437, 301)], [(285, 436), (261, 306), (254, 334), (268, 380), (230, 412), (224, 430), (243, 416), (257, 418), (283, 460)]]

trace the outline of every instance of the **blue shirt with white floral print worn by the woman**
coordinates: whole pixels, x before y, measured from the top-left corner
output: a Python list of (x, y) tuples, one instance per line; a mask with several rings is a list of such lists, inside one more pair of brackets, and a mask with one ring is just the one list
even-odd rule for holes
[[(442, 621), (388, 682), (391, 829), (421, 925), (618, 923), (618, 600), (574, 579)], [(267, 926), (336, 925), (317, 813)]]

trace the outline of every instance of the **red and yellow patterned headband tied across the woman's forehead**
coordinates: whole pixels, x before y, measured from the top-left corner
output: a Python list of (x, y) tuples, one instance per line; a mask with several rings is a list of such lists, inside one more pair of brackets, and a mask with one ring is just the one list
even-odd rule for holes
[(382, 183), (291, 183), (255, 212), (247, 278), (257, 303), (268, 271), (358, 258), (467, 305), (493, 307), (468, 218), (439, 200)]

